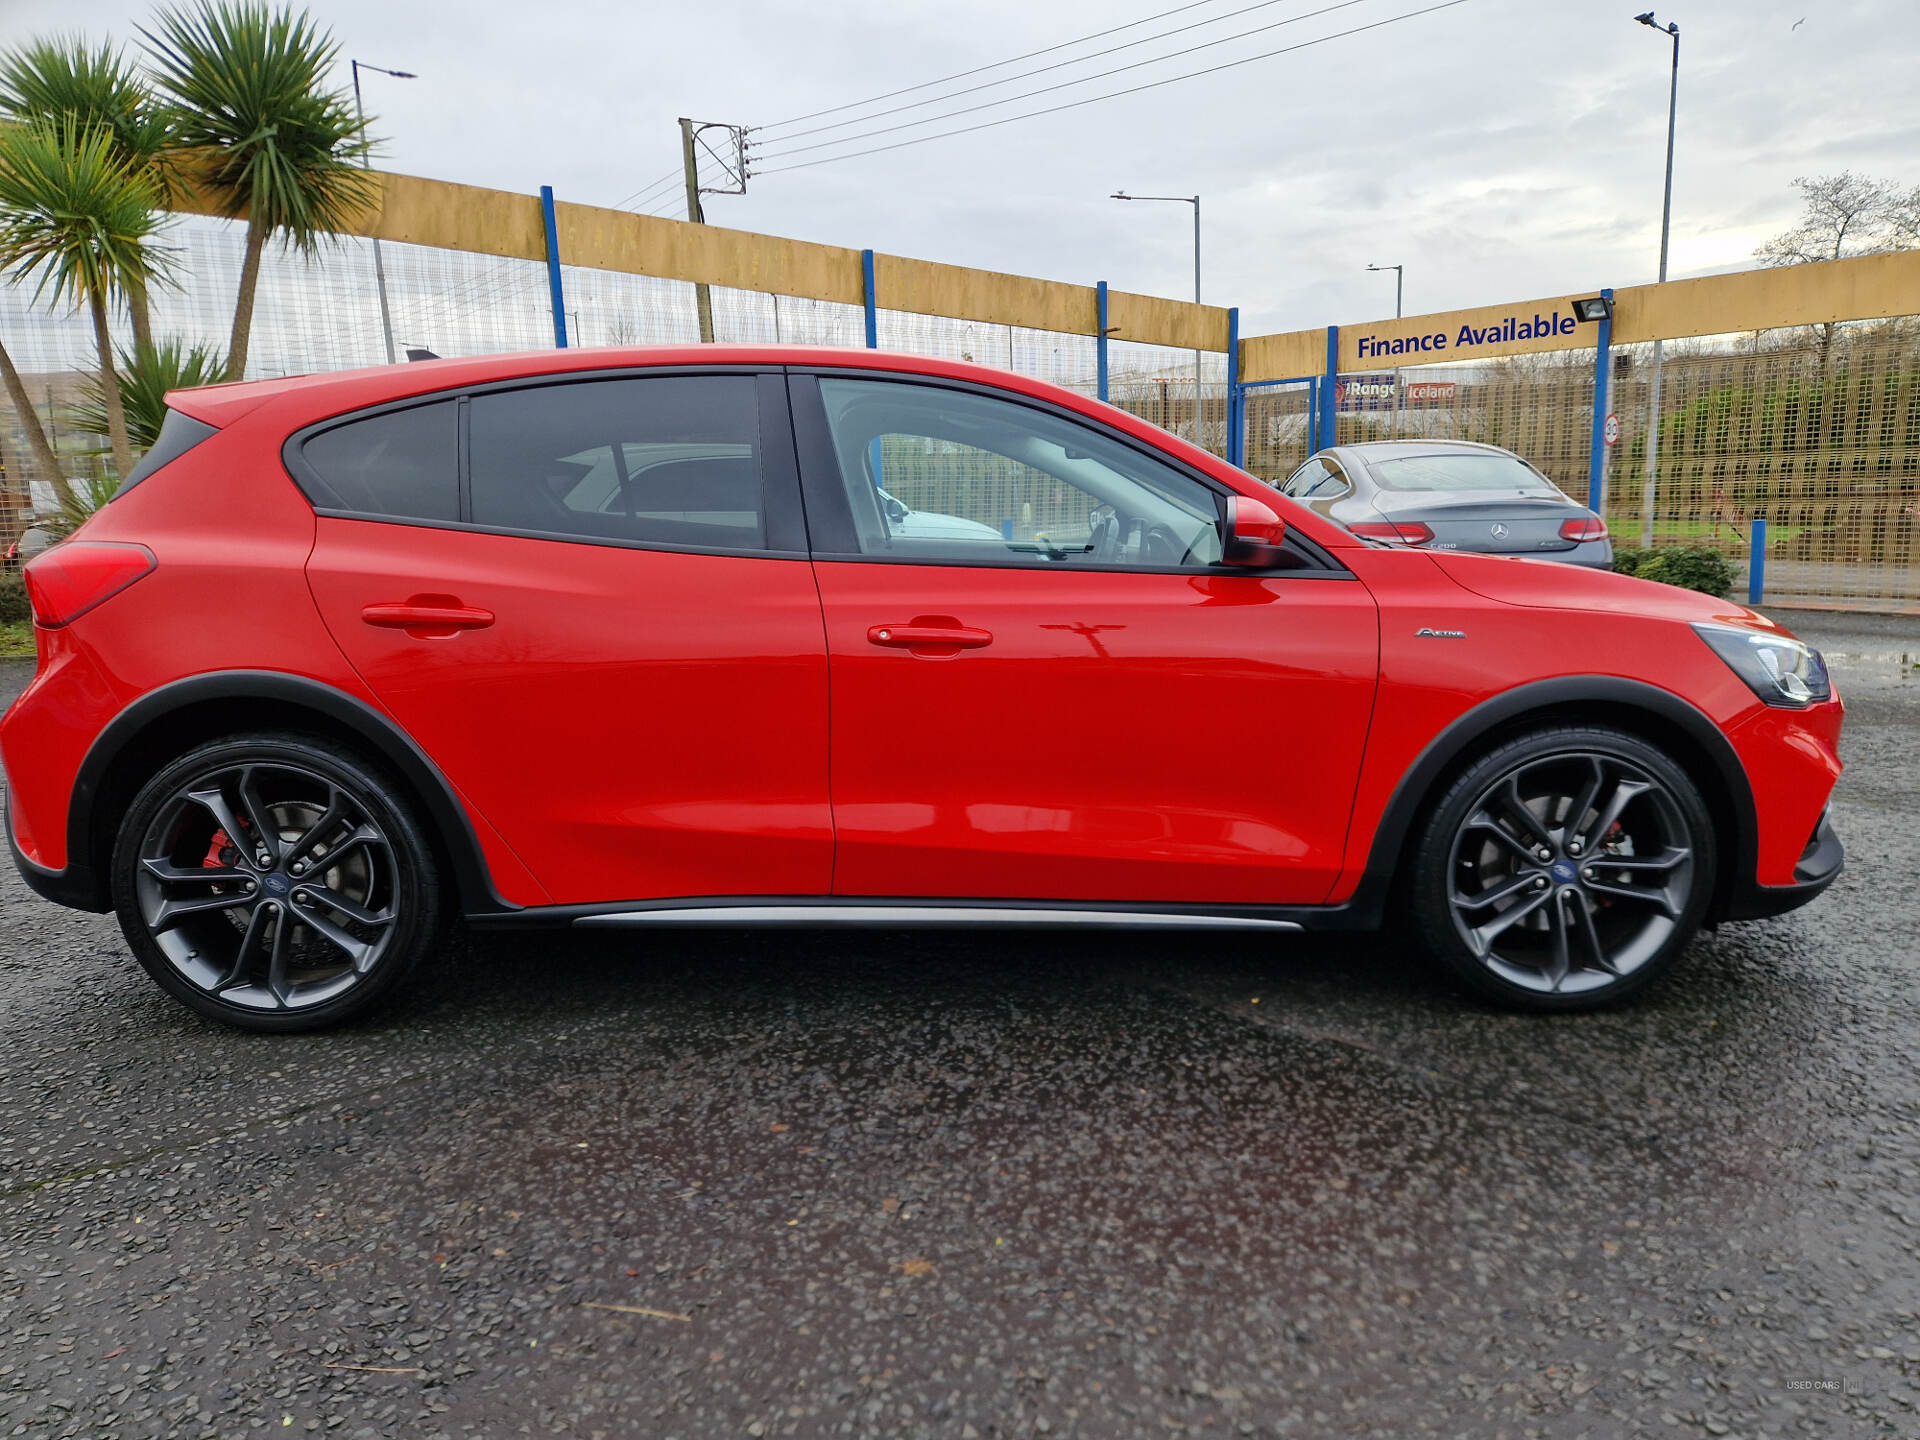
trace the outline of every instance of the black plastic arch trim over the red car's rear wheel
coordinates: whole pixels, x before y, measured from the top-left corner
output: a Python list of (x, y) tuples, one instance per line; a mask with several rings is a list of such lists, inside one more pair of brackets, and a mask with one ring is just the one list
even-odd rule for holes
[(192, 707), (219, 701), (265, 701), (294, 710), (305, 710), (330, 728), (346, 730), (353, 739), (372, 751), (374, 758), (392, 768), (397, 780), (426, 808), (424, 820), (432, 826), (434, 839), (445, 851), (453, 868), (453, 883), (465, 910), (511, 912), (518, 910), (493, 889), (493, 879), (474, 833), (472, 820), (442, 774), (440, 766), (415, 745), (388, 714), (382, 714), (367, 701), (338, 689), (311, 676), (298, 676), (286, 670), (211, 670), (207, 674), (173, 680), (157, 689), (150, 689), (125, 710), (121, 710), (94, 737), (86, 749), (86, 758), (73, 778), (73, 795), (67, 803), (67, 866), (75, 887), (96, 889), (106, 908), (108, 876), (98, 864), (100, 847), (111, 845), (111, 833), (102, 835), (100, 803), (113, 776), (113, 766), (138, 743), (152, 735), (171, 716)]

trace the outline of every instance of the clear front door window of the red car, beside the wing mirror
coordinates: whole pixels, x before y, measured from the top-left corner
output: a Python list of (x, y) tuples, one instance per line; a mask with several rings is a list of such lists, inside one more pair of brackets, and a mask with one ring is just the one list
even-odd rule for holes
[(1204, 566), (1215, 493), (1089, 426), (993, 396), (820, 380), (862, 555)]

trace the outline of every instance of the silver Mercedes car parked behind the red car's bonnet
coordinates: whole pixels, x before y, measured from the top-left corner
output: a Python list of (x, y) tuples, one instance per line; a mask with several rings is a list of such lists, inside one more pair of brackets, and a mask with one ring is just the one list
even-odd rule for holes
[(1607, 522), (1500, 445), (1467, 440), (1334, 445), (1286, 476), (1279, 490), (1363, 540), (1613, 568)]

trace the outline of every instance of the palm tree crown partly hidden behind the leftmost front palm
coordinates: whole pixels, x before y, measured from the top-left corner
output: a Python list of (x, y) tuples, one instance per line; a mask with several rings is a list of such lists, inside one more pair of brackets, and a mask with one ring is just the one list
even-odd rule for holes
[[(182, 182), (173, 150), (173, 123), (140, 73), (111, 44), (90, 46), (81, 36), (31, 40), (0, 58), (0, 119), (21, 125), (100, 125), (127, 169), (154, 180), (161, 205), (171, 207)], [(127, 292), (134, 346), (150, 346), (144, 286)]]

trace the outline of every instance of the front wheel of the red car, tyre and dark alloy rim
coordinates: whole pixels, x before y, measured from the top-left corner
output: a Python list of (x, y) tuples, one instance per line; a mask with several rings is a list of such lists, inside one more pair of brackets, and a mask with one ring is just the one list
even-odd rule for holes
[(1411, 866), (1425, 947), (1519, 1010), (1592, 1010), (1667, 970), (1713, 897), (1707, 803), (1659, 747), (1542, 728), (1482, 755), (1427, 812)]

